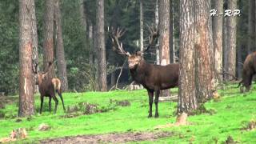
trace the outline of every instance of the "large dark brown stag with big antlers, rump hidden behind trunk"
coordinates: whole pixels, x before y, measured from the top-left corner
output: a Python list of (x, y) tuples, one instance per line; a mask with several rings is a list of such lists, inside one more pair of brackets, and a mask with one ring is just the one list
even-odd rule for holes
[(121, 38), (125, 33), (124, 30), (113, 30), (110, 33), (112, 39), (113, 49), (118, 54), (128, 57), (128, 65), (131, 77), (135, 82), (138, 82), (146, 88), (149, 95), (150, 112), (148, 118), (152, 117), (152, 105), (153, 98), (155, 104), (155, 118), (158, 118), (158, 97), (160, 90), (166, 90), (175, 86), (178, 86), (178, 73), (179, 64), (169, 64), (166, 66), (158, 66), (151, 63), (147, 63), (143, 54), (149, 50), (153, 45), (154, 39), (158, 38), (158, 30), (150, 28), (150, 42), (146, 50), (138, 51), (135, 54), (130, 54), (122, 48), (122, 43), (118, 42), (118, 38)]

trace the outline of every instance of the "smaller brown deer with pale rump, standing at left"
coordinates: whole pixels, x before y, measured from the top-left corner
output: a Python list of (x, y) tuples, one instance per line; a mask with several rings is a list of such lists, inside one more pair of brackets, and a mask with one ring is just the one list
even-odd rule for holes
[(34, 68), (34, 74), (36, 74), (36, 84), (39, 88), (40, 98), (41, 98), (41, 106), (40, 106), (40, 114), (42, 114), (42, 104), (43, 104), (43, 98), (49, 97), (49, 110), (51, 111), (51, 98), (54, 99), (55, 102), (55, 109), (54, 113), (56, 114), (57, 107), (58, 107), (58, 98), (56, 98), (55, 92), (58, 93), (58, 96), (62, 100), (62, 106), (63, 110), (65, 111), (65, 106), (62, 98), (62, 91), (61, 91), (61, 81), (58, 78), (48, 78), (47, 74), (50, 69), (50, 66), (52, 66), (52, 62), (49, 62), (47, 70), (45, 72), (39, 72), (38, 73), (38, 63), (36, 63)]

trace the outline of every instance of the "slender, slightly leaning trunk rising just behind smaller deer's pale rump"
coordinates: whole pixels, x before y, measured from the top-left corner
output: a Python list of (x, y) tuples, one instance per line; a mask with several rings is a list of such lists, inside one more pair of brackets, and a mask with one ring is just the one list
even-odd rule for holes
[(62, 82), (62, 90), (68, 90), (68, 82), (66, 76), (66, 60), (65, 51), (63, 46), (62, 38), (62, 14), (59, 7), (59, 0), (54, 0), (54, 19), (57, 34), (57, 46), (56, 46), (56, 56), (57, 56), (57, 68), (58, 68), (58, 78)]

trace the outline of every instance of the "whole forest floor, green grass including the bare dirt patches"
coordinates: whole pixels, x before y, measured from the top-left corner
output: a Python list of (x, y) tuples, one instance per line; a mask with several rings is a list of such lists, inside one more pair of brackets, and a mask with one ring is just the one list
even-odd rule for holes
[[(166, 126), (176, 120), (177, 102), (160, 102), (159, 118), (147, 118), (146, 90), (65, 93), (66, 112), (59, 101), (57, 114), (49, 112), (47, 98), (42, 114), (38, 114), (40, 100), (36, 95), (37, 114), (29, 118), (17, 117), (18, 96), (12, 96), (1, 102), (5, 106), (0, 108), (0, 139), (25, 128), (27, 137), (16, 142), (255, 143), (256, 86), (246, 94), (240, 94), (235, 86), (218, 90), (221, 97), (194, 111), (188, 126)], [(178, 89), (171, 91), (177, 94)], [(49, 127), (38, 130), (42, 123)]]

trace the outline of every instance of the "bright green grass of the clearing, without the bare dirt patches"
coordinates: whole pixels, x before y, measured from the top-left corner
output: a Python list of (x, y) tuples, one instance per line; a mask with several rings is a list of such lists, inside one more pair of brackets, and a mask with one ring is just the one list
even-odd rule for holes
[[(148, 97), (146, 90), (135, 91), (111, 91), (106, 93), (66, 93), (63, 98), (66, 106), (74, 106), (79, 102), (90, 102), (99, 107), (107, 107), (112, 100), (129, 100), (131, 105), (118, 106), (116, 110), (106, 113), (80, 115), (74, 118), (62, 118), (65, 113), (61, 102), (57, 114), (48, 112), (48, 98), (45, 98), (42, 115), (34, 115), (30, 121), (22, 118), (22, 122), (15, 122), (18, 113), (17, 103), (7, 105), (0, 110), (7, 118), (0, 119), (0, 138), (6, 137), (11, 130), (24, 127), (29, 137), (26, 142), (34, 142), (46, 138), (58, 138), (78, 134), (106, 134), (112, 132), (123, 133), (126, 131), (171, 131), (174, 135), (167, 138), (159, 138), (155, 143), (188, 143), (194, 139), (194, 143), (218, 143), (225, 142), (230, 135), (235, 141), (242, 143), (255, 143), (255, 130), (241, 130), (246, 122), (256, 120), (256, 90), (247, 94), (240, 94), (238, 88), (228, 86), (226, 90), (219, 90), (222, 98), (218, 102), (206, 102), (207, 110), (214, 110), (215, 114), (200, 114), (190, 116), (190, 126), (174, 126), (155, 130), (155, 126), (175, 122), (174, 115), (177, 102), (160, 102), (159, 118), (147, 118)], [(255, 86), (254, 86), (255, 87)], [(177, 89), (174, 90), (177, 92)], [(39, 98), (36, 96), (36, 109), (39, 109)], [(52, 101), (54, 108), (54, 101)], [(153, 113), (154, 114), (154, 113)], [(51, 126), (48, 131), (38, 131), (41, 123)], [(141, 143), (148, 143), (143, 141)]]

